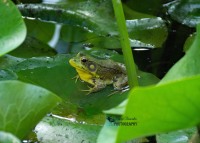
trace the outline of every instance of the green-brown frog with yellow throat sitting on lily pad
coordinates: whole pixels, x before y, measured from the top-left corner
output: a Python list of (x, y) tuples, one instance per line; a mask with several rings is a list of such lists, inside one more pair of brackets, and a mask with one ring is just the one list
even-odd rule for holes
[(100, 91), (107, 85), (113, 85), (114, 90), (122, 91), (128, 86), (128, 77), (124, 64), (111, 59), (100, 59), (84, 52), (79, 52), (69, 60), (82, 81), (89, 83), (88, 94)]

